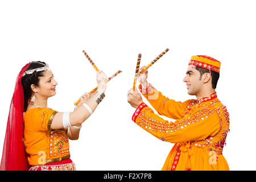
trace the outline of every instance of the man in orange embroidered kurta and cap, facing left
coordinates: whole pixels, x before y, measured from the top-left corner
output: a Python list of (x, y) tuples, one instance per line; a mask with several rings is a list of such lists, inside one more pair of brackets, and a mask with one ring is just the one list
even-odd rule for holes
[(143, 96), (158, 114), (176, 119), (175, 122), (154, 114), (138, 90), (129, 90), (127, 100), (137, 108), (133, 121), (160, 140), (175, 143), (162, 170), (229, 170), (222, 155), (229, 131), (229, 114), (215, 92), (220, 65), (209, 56), (191, 57), (183, 81), (188, 94), (197, 100), (185, 102), (171, 100), (148, 84), (147, 71), (139, 75)]

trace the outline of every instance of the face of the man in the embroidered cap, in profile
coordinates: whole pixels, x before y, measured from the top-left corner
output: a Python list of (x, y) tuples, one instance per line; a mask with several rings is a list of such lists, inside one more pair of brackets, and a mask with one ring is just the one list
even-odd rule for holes
[(203, 86), (203, 81), (200, 80), (200, 72), (196, 70), (194, 65), (188, 66), (186, 76), (183, 81), (187, 84), (188, 94), (192, 96), (199, 93)]

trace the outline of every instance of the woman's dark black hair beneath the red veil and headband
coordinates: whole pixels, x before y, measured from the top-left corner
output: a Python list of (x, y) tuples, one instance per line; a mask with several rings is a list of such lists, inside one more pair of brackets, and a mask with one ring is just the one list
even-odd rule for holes
[[(33, 61), (30, 63), (30, 66), (26, 69), (26, 71), (35, 69), (35, 68), (42, 68), (46, 65), (46, 63), (42, 61)], [(32, 96), (32, 89), (31, 85), (34, 84), (35, 86), (39, 86), (39, 77), (44, 76), (44, 71), (34, 71), (31, 74), (26, 74), (21, 78), (22, 87), (23, 87), (23, 93), (24, 93), (24, 112), (27, 110), (28, 102), (30, 101), (30, 98)]]

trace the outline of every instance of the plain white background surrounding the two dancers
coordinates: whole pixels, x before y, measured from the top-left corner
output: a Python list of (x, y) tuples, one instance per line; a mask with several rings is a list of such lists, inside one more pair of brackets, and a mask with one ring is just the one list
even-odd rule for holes
[(195, 98), (183, 82), (191, 56), (221, 61), (216, 91), (230, 114), (223, 154), (231, 170), (255, 170), (253, 2), (1, 1), (0, 155), (20, 69), (29, 61), (46, 61), (58, 82), (48, 106), (72, 111), (81, 94), (97, 86), (85, 50), (108, 77), (123, 72), (108, 83), (104, 101), (83, 123), (79, 140), (70, 140), (77, 170), (160, 170), (173, 144), (131, 121), (135, 109), (126, 94), (138, 53), (142, 66), (169, 48), (148, 69), (148, 81), (165, 96), (185, 101)]

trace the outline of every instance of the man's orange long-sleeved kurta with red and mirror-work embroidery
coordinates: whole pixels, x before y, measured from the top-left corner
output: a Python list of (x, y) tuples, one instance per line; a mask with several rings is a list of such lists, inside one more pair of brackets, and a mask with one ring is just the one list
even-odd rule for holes
[[(142, 90), (142, 86), (139, 85)], [(146, 104), (138, 106), (133, 121), (160, 140), (175, 143), (162, 170), (229, 170), (222, 155), (229, 131), (229, 114), (216, 93), (200, 100), (176, 102), (155, 88), (142, 93), (160, 115)]]

